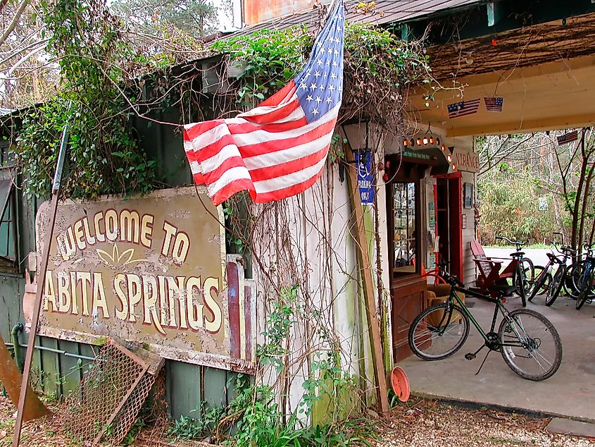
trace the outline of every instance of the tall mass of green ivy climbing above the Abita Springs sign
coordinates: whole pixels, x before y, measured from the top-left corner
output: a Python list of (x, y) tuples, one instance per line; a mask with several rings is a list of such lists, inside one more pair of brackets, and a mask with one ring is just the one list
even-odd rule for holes
[(53, 100), (22, 116), (16, 152), (27, 194), (48, 195), (67, 121), (66, 197), (150, 192), (156, 161), (146, 157), (130, 125), (132, 111), (121, 90), (129, 78), (120, 67), (134, 54), (120, 38), (120, 24), (101, 0), (44, 1), (42, 7), (51, 36), (47, 50), (59, 63), (61, 79)]

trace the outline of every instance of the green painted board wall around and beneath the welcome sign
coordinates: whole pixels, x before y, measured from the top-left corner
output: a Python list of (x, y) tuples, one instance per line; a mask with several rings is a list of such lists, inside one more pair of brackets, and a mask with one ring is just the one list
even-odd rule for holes
[[(208, 103), (208, 101), (206, 102)], [(157, 121), (178, 123), (180, 114), (177, 107), (169, 107), (151, 113)], [(192, 184), (192, 176), (184, 156), (182, 133), (173, 125), (154, 123), (136, 118), (134, 128), (146, 152), (158, 161), (158, 175), (163, 188), (173, 188)], [(18, 221), (20, 230), (20, 259), (30, 251), (35, 251), (35, 212), (41, 200), (27, 201), (18, 194)], [(23, 268), (24, 264), (21, 264)], [(23, 275), (0, 273), (0, 333), (7, 343), (10, 342), (11, 328), (23, 322), (21, 301), (25, 281)], [(27, 343), (25, 333), (20, 333), (20, 343)], [(68, 353), (94, 357), (98, 348), (82, 343), (41, 337), (37, 345)], [(23, 348), (23, 355), (25, 349)], [(78, 359), (58, 353), (36, 350), (32, 381), (46, 393), (68, 395), (83, 376), (87, 360), (79, 365)], [(223, 369), (200, 367), (183, 362), (168, 360), (165, 362), (165, 398), (169, 411), (174, 418), (181, 415), (199, 418), (195, 408), (206, 402), (208, 406), (227, 405), (234, 398), (234, 391), (227, 389), (228, 380), (235, 375)]]

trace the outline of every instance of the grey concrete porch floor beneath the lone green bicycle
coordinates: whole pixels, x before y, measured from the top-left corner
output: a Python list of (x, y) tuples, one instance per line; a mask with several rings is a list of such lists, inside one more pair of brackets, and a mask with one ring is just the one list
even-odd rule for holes
[[(506, 306), (520, 307), (519, 301), (511, 298)], [(473, 298), (468, 302), (474, 303), (470, 310), (477, 321), (489, 329), (494, 305)], [(563, 358), (556, 374), (540, 382), (522, 379), (506, 366), (500, 353), (492, 352), (475, 375), (487, 351), (482, 350), (475, 360), (465, 360), (465, 353), (475, 352), (483, 343), (471, 326), (467, 342), (452, 357), (427, 362), (412, 355), (399, 363), (413, 393), (595, 422), (595, 303), (577, 311), (575, 301), (564, 296), (552, 307), (536, 297), (527, 307), (544, 314), (560, 333)]]

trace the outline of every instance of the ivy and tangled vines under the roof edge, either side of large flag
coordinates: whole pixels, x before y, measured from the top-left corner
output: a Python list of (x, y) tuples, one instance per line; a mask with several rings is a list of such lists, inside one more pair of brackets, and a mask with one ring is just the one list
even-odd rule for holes
[[(313, 37), (307, 28), (295, 26), (231, 37), (215, 42), (212, 49), (230, 54), (232, 63), (242, 67), (233, 87), (237, 103), (249, 107), (295, 78), (312, 46)], [(420, 42), (406, 42), (369, 24), (346, 24), (344, 101), (339, 123), (355, 116), (399, 123), (409, 85), (430, 82), (430, 65)], [(432, 94), (428, 97), (431, 99)]]

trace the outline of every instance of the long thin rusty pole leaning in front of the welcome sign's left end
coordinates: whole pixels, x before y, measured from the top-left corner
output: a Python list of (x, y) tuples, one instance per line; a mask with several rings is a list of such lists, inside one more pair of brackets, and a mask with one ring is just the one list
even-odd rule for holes
[[(70, 105), (68, 106), (70, 110)], [(66, 146), (68, 143), (68, 122), (64, 125), (62, 140), (60, 143), (60, 152), (58, 152), (58, 162), (56, 164), (56, 175), (54, 176), (54, 185), (51, 188), (51, 204), (49, 212), (49, 224), (46, 227), (44, 238), (44, 254), (42, 265), (39, 270), (37, 281), (37, 293), (35, 293), (35, 303), (33, 305), (33, 318), (31, 321), (31, 331), (29, 333), (29, 342), (27, 343), (27, 353), (25, 354), (25, 368), (23, 369), (23, 382), (20, 386), (20, 395), (18, 396), (17, 417), (15, 431), (13, 436), (13, 447), (20, 445), (20, 431), (23, 428), (23, 409), (25, 408), (25, 399), (29, 389), (29, 376), (31, 374), (31, 363), (33, 360), (33, 350), (35, 350), (35, 336), (39, 326), (39, 314), (42, 310), (42, 297), (46, 283), (46, 270), (49, 260), (49, 250), (51, 248), (51, 238), (54, 236), (54, 224), (56, 224), (56, 212), (58, 211), (58, 195), (60, 194), (60, 184), (62, 180), (62, 170), (64, 159), (66, 157)]]

